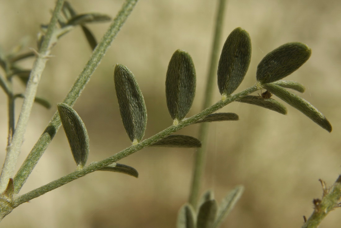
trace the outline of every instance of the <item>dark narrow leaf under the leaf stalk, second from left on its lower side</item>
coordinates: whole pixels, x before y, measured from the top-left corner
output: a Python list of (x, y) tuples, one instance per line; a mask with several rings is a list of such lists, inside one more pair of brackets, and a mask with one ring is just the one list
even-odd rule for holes
[(201, 141), (188, 135), (169, 135), (151, 146), (198, 148), (201, 147)]

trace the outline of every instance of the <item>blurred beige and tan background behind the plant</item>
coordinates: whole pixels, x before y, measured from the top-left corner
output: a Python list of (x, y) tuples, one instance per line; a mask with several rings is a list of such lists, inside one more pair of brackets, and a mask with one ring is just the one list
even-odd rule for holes
[[(36, 34), (50, 20), (55, 1), (2, 0), (0, 45), (9, 52), (24, 37), (36, 47)], [(115, 17), (122, 0), (70, 0), (78, 13), (101, 12)], [(88, 163), (104, 159), (131, 142), (125, 133), (114, 90), (116, 63), (135, 75), (148, 111), (145, 138), (172, 124), (165, 102), (165, 74), (176, 49), (192, 56), (197, 72), (197, 92), (188, 116), (201, 111), (216, 1), (141, 0), (119, 32), (74, 109), (90, 137)], [(311, 58), (288, 76), (306, 86), (302, 97), (328, 118), (328, 133), (302, 113), (288, 107), (288, 115), (260, 107), (232, 103), (222, 109), (240, 120), (211, 123), (207, 165), (201, 193), (213, 189), (218, 202), (235, 185), (244, 194), (222, 227), (301, 227), (303, 215), (313, 211), (313, 198), (322, 195), (318, 179), (331, 185), (340, 174), (340, 61), (341, 2), (336, 0), (229, 0), (221, 47), (236, 27), (252, 40), (249, 71), (236, 92), (255, 83), (258, 62), (287, 42), (302, 42)], [(109, 23), (91, 24), (98, 40)], [(25, 51), (29, 51), (28, 47)], [(34, 105), (18, 167), (44, 131), (56, 104), (61, 102), (91, 54), (80, 28), (54, 47), (38, 95), (53, 107)], [(31, 67), (32, 61), (24, 61)], [(2, 74), (2, 73), (1, 73)], [(15, 79), (17, 92), (23, 91)], [(256, 94), (256, 93), (255, 93)], [(220, 99), (218, 88), (215, 101)], [(273, 98), (276, 99), (274, 96)], [(7, 102), (0, 93), (1, 165), (7, 141)], [(16, 103), (19, 112), (21, 101)], [(198, 125), (179, 132), (198, 136)], [(94, 172), (21, 204), (0, 227), (9, 228), (173, 228), (179, 208), (188, 200), (194, 149), (145, 148), (120, 161), (139, 172), (136, 179), (121, 173)], [(27, 180), (21, 194), (72, 172), (76, 168), (65, 133), (60, 130)], [(339, 227), (341, 209), (331, 212), (321, 227)]]

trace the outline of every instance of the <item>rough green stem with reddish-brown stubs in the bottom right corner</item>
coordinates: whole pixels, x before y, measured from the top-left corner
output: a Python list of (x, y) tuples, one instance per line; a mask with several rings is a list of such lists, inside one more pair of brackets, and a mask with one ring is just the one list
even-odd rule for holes
[[(324, 188), (324, 187), (323, 187)], [(341, 198), (341, 175), (328, 190), (323, 189), (324, 194), (321, 200), (314, 200), (315, 208), (307, 222), (302, 228), (317, 228), (327, 214), (337, 207)]]

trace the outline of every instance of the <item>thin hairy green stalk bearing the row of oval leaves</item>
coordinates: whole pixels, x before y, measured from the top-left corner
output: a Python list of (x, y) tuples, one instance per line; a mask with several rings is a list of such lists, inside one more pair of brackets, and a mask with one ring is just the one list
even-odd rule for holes
[(246, 96), (250, 93), (253, 93), (255, 91), (258, 90), (258, 87), (255, 85), (255, 86), (252, 86), (244, 91), (241, 91), (235, 95), (232, 95), (232, 96), (229, 96), (226, 98), (226, 100), (224, 101), (219, 101), (217, 102), (216, 104), (212, 105), (211, 107), (209, 108), (206, 108), (205, 110), (203, 110), (202, 112), (186, 119), (186, 120), (183, 120), (181, 121), (178, 125), (172, 125), (168, 128), (166, 128), (165, 130), (159, 132), (158, 134), (148, 138), (148, 139), (145, 139), (143, 141), (141, 141), (140, 143), (136, 144), (136, 145), (132, 145), (116, 154), (114, 154), (113, 156), (110, 156), (100, 162), (93, 162), (91, 163), (89, 166), (81, 169), (81, 170), (75, 170), (74, 172), (64, 176), (64, 177), (61, 177), (55, 181), (52, 181), (44, 186), (41, 186), (39, 188), (36, 188), (26, 194), (23, 194), (19, 197), (16, 197), (16, 199), (14, 200), (13, 202), (13, 207), (17, 207), (19, 206), (19, 204), (21, 203), (24, 203), (24, 202), (27, 202), (33, 198), (36, 198), (38, 196), (41, 196), (49, 191), (52, 191), (53, 189), (56, 189), (66, 183), (69, 183), (73, 180), (76, 180), (80, 177), (83, 177), (85, 176), (86, 174), (88, 173), (91, 173), (91, 172), (94, 172), (96, 170), (99, 170), (109, 164), (112, 164), (113, 162), (117, 162), (118, 160), (124, 158), (124, 157), (127, 157), (128, 155), (131, 155), (133, 153), (135, 153), (136, 151), (138, 150), (141, 150), (145, 147), (148, 147), (150, 145), (152, 145), (153, 143), (157, 142), (158, 140), (160, 139), (163, 139), (164, 137), (192, 124), (192, 123), (195, 123), (197, 120), (200, 120), (200, 119), (203, 119), (204, 117), (206, 117), (207, 115), (211, 114), (212, 112), (215, 112), (219, 109), (221, 109), (222, 107), (224, 107), (225, 105), (231, 103), (231, 102), (234, 102), (238, 99), (240, 99), (241, 97), (243, 96)]

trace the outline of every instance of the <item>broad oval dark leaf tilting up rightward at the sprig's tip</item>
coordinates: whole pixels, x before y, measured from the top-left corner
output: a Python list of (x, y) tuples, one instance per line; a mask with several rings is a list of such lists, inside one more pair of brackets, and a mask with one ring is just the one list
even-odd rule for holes
[(302, 43), (286, 43), (267, 54), (257, 66), (256, 78), (261, 83), (278, 81), (305, 63), (311, 49)]

